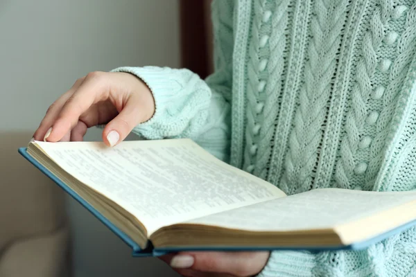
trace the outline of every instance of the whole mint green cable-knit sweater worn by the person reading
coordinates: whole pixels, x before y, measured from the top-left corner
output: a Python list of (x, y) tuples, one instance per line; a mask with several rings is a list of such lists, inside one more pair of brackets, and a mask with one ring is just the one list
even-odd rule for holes
[[(189, 137), (289, 195), (416, 188), (415, 0), (212, 8), (207, 80), (186, 69), (114, 70), (134, 73), (155, 96), (155, 115), (134, 132)], [(275, 251), (259, 275), (416, 276), (416, 229), (365, 251)]]

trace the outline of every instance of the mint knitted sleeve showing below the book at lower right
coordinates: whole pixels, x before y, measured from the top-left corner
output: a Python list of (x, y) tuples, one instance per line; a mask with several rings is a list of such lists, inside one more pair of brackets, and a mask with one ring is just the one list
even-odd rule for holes
[(257, 277), (415, 276), (416, 227), (361, 251), (273, 251)]

